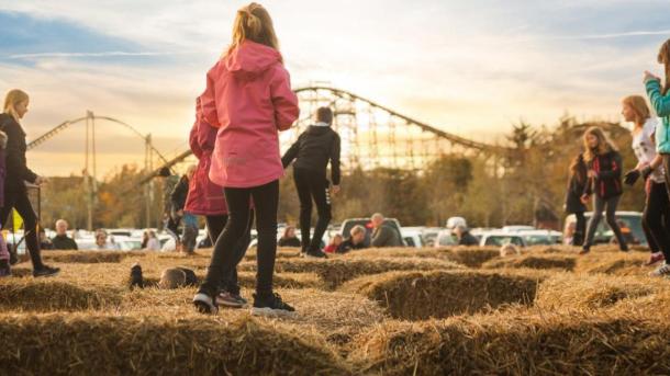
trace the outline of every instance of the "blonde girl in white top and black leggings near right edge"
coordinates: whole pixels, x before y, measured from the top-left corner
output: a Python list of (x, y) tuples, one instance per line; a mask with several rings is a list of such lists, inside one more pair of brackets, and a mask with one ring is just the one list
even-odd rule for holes
[[(630, 95), (622, 101), (622, 115), (626, 122), (634, 124), (633, 150), (637, 157), (637, 167), (625, 175), (625, 183), (634, 185), (643, 171), (657, 158), (656, 127), (658, 121), (651, 117), (647, 102), (640, 95)], [(647, 201), (643, 213), (643, 228), (651, 257), (645, 265), (652, 265), (662, 260), (670, 260), (670, 202), (666, 191), (663, 168), (645, 173)], [(670, 267), (667, 267), (670, 272)], [(665, 271), (663, 267), (659, 271)]]

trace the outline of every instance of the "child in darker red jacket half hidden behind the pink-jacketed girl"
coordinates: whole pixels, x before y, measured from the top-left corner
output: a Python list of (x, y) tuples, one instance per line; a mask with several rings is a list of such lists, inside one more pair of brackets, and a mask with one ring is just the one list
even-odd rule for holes
[[(223, 195), (223, 189), (214, 184), (209, 176), (212, 152), (214, 152), (214, 145), (216, 144), (216, 128), (202, 118), (200, 98), (196, 100), (196, 123), (193, 123), (191, 128), (189, 144), (193, 155), (198, 158), (198, 168), (189, 185), (186, 210), (194, 215), (204, 216), (210, 241), (214, 244), (228, 220), (228, 206)], [(253, 221), (254, 212), (250, 210), (245, 235), (236, 246), (235, 267), (232, 271), (225, 271), (223, 274), (221, 292), (216, 300), (226, 307), (242, 308), (247, 303), (239, 295), (236, 266), (244, 258), (252, 242)]]

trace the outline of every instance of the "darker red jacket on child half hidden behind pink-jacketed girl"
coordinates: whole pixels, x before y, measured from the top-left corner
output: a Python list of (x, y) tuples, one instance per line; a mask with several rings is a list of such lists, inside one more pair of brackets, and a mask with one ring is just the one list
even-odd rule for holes
[(185, 210), (197, 215), (224, 215), (228, 207), (223, 195), (223, 187), (212, 183), (209, 178), (212, 152), (216, 143), (216, 128), (202, 118), (200, 98), (196, 101), (196, 123), (191, 128), (189, 144), (198, 158), (198, 169), (189, 182), (189, 195)]

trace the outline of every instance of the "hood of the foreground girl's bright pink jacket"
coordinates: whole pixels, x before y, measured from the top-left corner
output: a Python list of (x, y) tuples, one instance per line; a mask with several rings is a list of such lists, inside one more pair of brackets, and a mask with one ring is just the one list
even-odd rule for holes
[(279, 61), (281, 54), (277, 49), (245, 41), (226, 56), (224, 64), (231, 73), (253, 79)]

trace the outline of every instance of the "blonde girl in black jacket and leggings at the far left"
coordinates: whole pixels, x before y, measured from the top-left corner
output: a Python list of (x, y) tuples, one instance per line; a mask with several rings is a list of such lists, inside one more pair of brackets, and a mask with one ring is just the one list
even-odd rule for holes
[(0, 114), (0, 130), (7, 134), (4, 181), (4, 206), (0, 209), (2, 228), (8, 223), (12, 208), (16, 209), (25, 227), (25, 246), (33, 262), (33, 276), (52, 276), (58, 274), (58, 267), (51, 267), (42, 262), (40, 240), (37, 237), (37, 215), (27, 197), (25, 182), (42, 184), (44, 178), (27, 168), (25, 160), (25, 132), (20, 121), (27, 112), (29, 96), (21, 90), (12, 90), (4, 100), (4, 112)]

